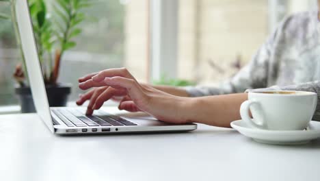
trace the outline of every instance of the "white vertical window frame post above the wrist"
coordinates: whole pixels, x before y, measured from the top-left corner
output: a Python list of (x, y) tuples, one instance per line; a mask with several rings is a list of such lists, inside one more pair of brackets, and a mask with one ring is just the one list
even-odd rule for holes
[(177, 77), (178, 1), (150, 0), (150, 75)]

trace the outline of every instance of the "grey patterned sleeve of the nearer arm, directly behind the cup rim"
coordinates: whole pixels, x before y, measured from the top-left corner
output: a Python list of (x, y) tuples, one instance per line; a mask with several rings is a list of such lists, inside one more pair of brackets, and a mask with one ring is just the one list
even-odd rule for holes
[(320, 121), (320, 81), (306, 82), (291, 86), (271, 86), (269, 88), (248, 89), (245, 90), (245, 92), (254, 92), (256, 90), (300, 90), (317, 93), (317, 108), (315, 110), (315, 114), (313, 114), (312, 120)]

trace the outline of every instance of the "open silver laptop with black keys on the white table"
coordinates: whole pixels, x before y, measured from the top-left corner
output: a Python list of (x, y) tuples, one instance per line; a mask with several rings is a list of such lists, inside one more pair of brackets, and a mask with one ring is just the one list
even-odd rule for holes
[(27, 0), (16, 1), (16, 19), (36, 111), (51, 132), (69, 135), (196, 130), (197, 125), (193, 123), (165, 123), (143, 113), (120, 111), (117, 108), (96, 110), (91, 116), (85, 115), (85, 108), (50, 108)]

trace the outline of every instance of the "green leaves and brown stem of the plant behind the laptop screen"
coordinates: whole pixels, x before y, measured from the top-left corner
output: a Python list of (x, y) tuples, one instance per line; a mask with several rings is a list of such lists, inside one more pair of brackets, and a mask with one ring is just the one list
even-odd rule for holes
[[(17, 27), (14, 12), (16, 0), (0, 1), (11, 3), (12, 22), (14, 27)], [(92, 1), (28, 0), (28, 2), (44, 82), (45, 84), (57, 84), (62, 57), (65, 51), (77, 45), (74, 39), (82, 32), (79, 25), (88, 19), (83, 10), (88, 8)], [(8, 19), (8, 15), (0, 14), (0, 18)], [(16, 35), (18, 35), (17, 31)], [(19, 41), (20, 36), (17, 36), (17, 39)], [(16, 77), (16, 80), (21, 83), (21, 79)]]

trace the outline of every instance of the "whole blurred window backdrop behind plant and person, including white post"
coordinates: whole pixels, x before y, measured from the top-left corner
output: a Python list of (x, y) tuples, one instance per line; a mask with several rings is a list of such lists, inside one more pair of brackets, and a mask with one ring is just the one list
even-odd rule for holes
[[(62, 58), (59, 82), (126, 67), (137, 80), (215, 85), (250, 61), (287, 15), (317, 10), (316, 0), (94, 0), (77, 47)], [(0, 1), (0, 12), (10, 8)], [(21, 57), (10, 21), (0, 21), (0, 106), (17, 105), (12, 74)]]

